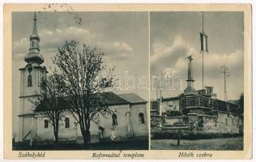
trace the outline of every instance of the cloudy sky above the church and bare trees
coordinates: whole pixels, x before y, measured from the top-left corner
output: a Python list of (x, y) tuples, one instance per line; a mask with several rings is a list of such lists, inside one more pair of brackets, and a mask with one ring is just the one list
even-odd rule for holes
[[(41, 38), (42, 64), (53, 67), (51, 57), (65, 40), (79, 40), (95, 46), (105, 53), (105, 64), (116, 66), (114, 75), (120, 80), (122, 90), (117, 93), (135, 92), (148, 99), (148, 91), (136, 88), (138, 79), (149, 74), (149, 31), (147, 12), (41, 12), (37, 14), (37, 31)], [(79, 18), (82, 23), (79, 24)], [(33, 13), (12, 14), (12, 83), (13, 108), (19, 109), (19, 68), (29, 49)], [(126, 73), (126, 71), (128, 73)], [(128, 75), (128, 77), (126, 76)], [(133, 77), (135, 87), (126, 87), (126, 78)], [(122, 83), (121, 83), (122, 82)], [(132, 85), (133, 81), (130, 80)], [(14, 113), (16, 117), (16, 114)]]

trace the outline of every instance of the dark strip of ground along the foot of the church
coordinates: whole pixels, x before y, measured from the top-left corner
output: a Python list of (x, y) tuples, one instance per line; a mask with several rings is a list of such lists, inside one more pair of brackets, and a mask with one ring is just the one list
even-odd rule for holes
[(14, 143), (13, 150), (148, 150), (148, 139), (127, 139), (125, 141), (109, 141), (104, 143), (88, 143), (83, 146), (75, 141), (60, 141), (58, 145), (53, 142)]

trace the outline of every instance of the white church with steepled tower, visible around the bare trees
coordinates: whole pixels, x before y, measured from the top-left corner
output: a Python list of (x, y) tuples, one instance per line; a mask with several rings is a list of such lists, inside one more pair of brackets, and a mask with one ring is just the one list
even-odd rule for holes
[[(49, 119), (35, 113), (32, 103), (29, 101), (34, 92), (39, 90), (39, 83), (44, 75), (47, 75), (45, 66), (41, 64), (44, 58), (39, 48), (40, 37), (36, 30), (36, 15), (34, 17), (33, 32), (30, 36), (29, 53), (25, 56), (27, 65), (20, 68), (20, 95), (19, 95), (19, 135), (15, 141), (53, 140), (53, 126)], [(147, 101), (140, 96), (129, 93), (117, 95), (114, 92), (105, 92), (108, 108), (113, 113), (107, 117), (99, 116), (91, 122), (92, 143), (100, 139), (122, 140), (132, 136), (147, 137)], [(68, 113), (65, 114), (59, 126), (59, 139), (81, 139), (79, 124), (75, 118)]]

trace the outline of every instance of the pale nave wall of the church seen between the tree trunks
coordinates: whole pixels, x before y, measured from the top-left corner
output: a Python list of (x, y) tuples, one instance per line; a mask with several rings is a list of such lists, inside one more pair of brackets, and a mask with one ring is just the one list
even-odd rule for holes
[[(128, 134), (128, 126), (126, 122), (126, 113), (130, 111), (130, 105), (129, 104), (122, 104), (122, 105), (113, 105), (109, 106), (109, 109), (113, 111), (113, 113), (117, 114), (117, 128), (115, 129), (117, 131), (117, 140), (123, 139), (127, 137)], [(65, 128), (65, 122), (64, 118), (69, 117), (70, 119), (70, 128)], [(63, 118), (63, 121), (60, 122), (61, 126), (59, 127), (59, 139), (76, 139), (77, 137), (82, 138), (81, 130), (79, 127), (79, 124), (76, 124), (75, 118), (69, 114), (66, 113), (65, 117)], [(44, 120), (45, 117), (38, 117), (38, 139), (45, 140), (45, 139), (53, 139), (53, 126), (49, 123), (49, 128), (44, 127)], [(139, 119), (138, 119), (139, 120)], [(98, 119), (95, 120), (95, 122), (91, 122), (91, 138), (92, 143), (99, 141), (99, 133), (100, 130), (98, 129), (99, 126), (102, 126), (105, 128), (103, 131), (103, 138), (109, 139), (112, 135), (112, 128), (113, 128), (113, 120), (112, 120), (112, 114), (106, 115), (106, 117), (99, 116)]]

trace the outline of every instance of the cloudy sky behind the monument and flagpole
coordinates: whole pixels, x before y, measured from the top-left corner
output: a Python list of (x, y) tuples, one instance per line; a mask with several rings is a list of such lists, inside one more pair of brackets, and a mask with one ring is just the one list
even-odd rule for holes
[[(151, 12), (150, 16), (151, 75), (174, 72), (186, 88), (186, 57), (190, 53), (194, 56), (194, 87), (202, 88), (202, 54), (199, 51), (202, 12)], [(204, 84), (213, 86), (220, 99), (224, 99), (224, 75), (220, 73), (223, 64), (228, 66), (230, 73), (228, 99), (237, 99), (243, 92), (243, 31), (242, 12), (204, 12), (209, 49), (209, 53), (204, 54)], [(170, 84), (175, 90), (164, 90), (163, 96), (181, 94), (179, 80)], [(151, 98), (156, 98), (156, 91), (151, 91)]]

